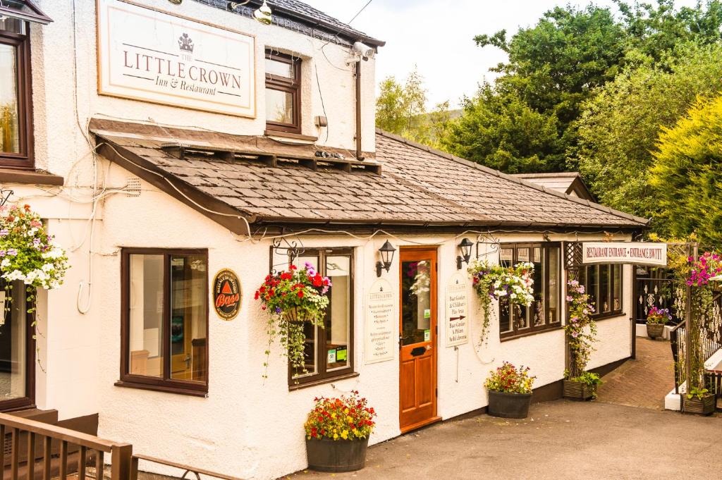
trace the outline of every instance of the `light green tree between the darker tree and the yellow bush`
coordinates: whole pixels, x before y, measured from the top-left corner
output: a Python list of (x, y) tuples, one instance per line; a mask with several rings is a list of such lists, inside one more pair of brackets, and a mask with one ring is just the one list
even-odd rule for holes
[(662, 126), (673, 126), (695, 102), (722, 91), (722, 45), (680, 45), (658, 65), (630, 68), (583, 104), (573, 125), (578, 169), (601, 203), (643, 217), (658, 205), (648, 169)]

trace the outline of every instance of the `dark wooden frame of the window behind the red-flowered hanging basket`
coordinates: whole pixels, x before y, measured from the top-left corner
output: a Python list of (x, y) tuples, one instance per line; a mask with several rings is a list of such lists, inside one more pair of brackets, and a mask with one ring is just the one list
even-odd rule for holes
[[(359, 375), (354, 370), (355, 359), (355, 339), (354, 339), (354, 248), (321, 248), (304, 250), (303, 256), (316, 256), (318, 258), (318, 273), (326, 276), (326, 257), (328, 256), (348, 256), (349, 257), (349, 345), (347, 347), (348, 367), (339, 370), (326, 372), (326, 344), (328, 335), (328, 325), (331, 318), (331, 290), (329, 290), (329, 307), (326, 309), (326, 328), (318, 328), (316, 336), (316, 373), (313, 375), (305, 375), (303, 377), (293, 377), (292, 369), (288, 367), (288, 385), (289, 390), (298, 390), (311, 385), (321, 385), (323, 383), (342, 380), (344, 378), (352, 378)], [(271, 263), (273, 263), (273, 247), (271, 247)], [(271, 266), (272, 270), (272, 266)], [(332, 286), (331, 289), (334, 287)]]

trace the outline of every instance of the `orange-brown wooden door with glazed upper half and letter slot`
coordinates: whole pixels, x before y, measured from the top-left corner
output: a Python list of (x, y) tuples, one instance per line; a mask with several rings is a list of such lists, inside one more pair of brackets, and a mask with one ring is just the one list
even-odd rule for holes
[(401, 249), (399, 422), (401, 432), (437, 421), (436, 250)]

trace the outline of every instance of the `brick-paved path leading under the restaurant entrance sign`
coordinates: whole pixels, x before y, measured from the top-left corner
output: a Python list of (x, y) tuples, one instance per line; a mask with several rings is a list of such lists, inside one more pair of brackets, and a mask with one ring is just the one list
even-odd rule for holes
[(664, 410), (664, 396), (674, 388), (669, 341), (637, 337), (637, 359), (604, 375), (597, 401)]

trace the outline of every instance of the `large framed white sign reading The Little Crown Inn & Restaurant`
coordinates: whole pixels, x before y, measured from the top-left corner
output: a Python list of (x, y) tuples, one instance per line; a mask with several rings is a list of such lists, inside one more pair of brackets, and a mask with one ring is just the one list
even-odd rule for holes
[(255, 42), (129, 0), (97, 0), (98, 93), (256, 117)]

